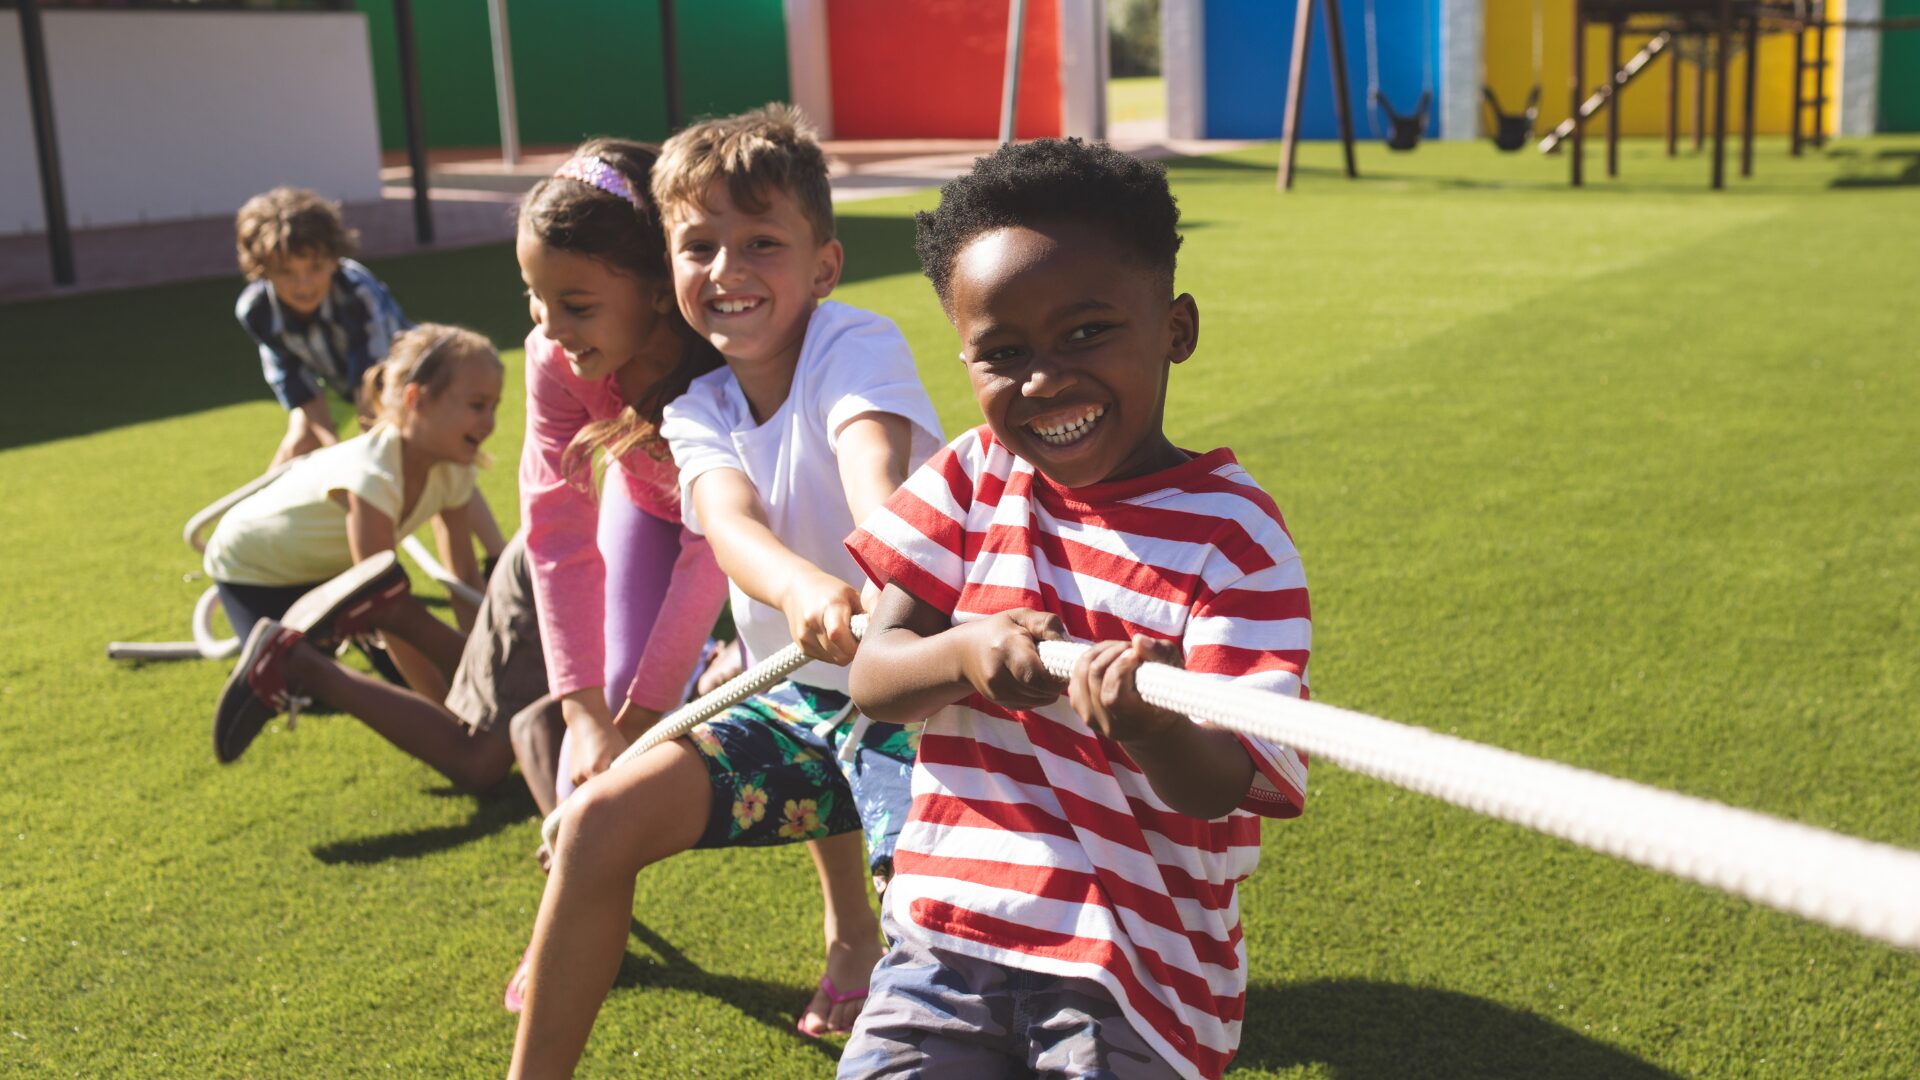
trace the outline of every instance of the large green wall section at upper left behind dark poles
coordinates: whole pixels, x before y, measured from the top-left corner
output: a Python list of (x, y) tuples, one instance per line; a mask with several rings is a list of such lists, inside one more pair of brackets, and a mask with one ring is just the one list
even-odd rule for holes
[[(392, 0), (355, 0), (372, 48), (380, 146), (407, 144)], [(780, 0), (680, 0), (680, 100), (687, 117), (787, 96)], [(497, 146), (486, 0), (415, 0), (428, 146)], [(657, 0), (509, 0), (520, 142), (666, 136)]]

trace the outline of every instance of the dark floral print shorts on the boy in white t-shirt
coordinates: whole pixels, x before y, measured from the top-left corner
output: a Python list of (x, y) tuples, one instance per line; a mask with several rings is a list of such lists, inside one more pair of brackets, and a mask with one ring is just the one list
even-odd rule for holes
[[(695, 847), (764, 847), (858, 828), (876, 882), (893, 876), (920, 724), (862, 724), (845, 694), (781, 682), (687, 738), (714, 792)], [(856, 746), (843, 759), (849, 740)]]

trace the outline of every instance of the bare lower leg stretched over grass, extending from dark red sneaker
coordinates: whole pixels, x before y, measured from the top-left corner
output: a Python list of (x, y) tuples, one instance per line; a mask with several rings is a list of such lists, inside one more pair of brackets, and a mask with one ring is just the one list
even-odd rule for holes
[(468, 792), (499, 784), (513, 769), (507, 742), (472, 734), (445, 705), (340, 667), (305, 642), (286, 653), (286, 676), (321, 701), (359, 717)]

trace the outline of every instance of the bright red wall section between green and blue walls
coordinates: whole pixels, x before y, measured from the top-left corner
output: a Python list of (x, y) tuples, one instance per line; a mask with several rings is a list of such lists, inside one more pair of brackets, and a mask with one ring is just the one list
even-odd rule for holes
[[(1012, 0), (829, 0), (835, 138), (995, 138)], [(1060, 6), (1027, 0), (1020, 138), (1060, 135)]]

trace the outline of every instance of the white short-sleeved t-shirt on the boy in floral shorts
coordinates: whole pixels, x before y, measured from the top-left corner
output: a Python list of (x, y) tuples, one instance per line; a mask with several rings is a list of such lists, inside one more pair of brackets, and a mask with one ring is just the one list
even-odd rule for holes
[[(912, 425), (908, 471), (945, 442), (900, 329), (891, 319), (829, 300), (808, 319), (793, 386), (766, 423), (755, 423), (747, 394), (724, 367), (701, 375), (666, 405), (660, 436), (674, 448), (674, 465), (680, 467), (682, 521), (705, 534), (693, 513), (693, 480), (714, 469), (735, 469), (760, 494), (768, 525), (781, 544), (860, 588), (866, 575), (847, 553), (854, 521), (835, 454), (841, 429), (862, 413), (891, 413)], [(791, 644), (785, 615), (749, 598), (737, 584), (732, 598), (733, 625), (755, 661)], [(810, 663), (793, 678), (847, 690), (847, 669), (829, 663)]]

